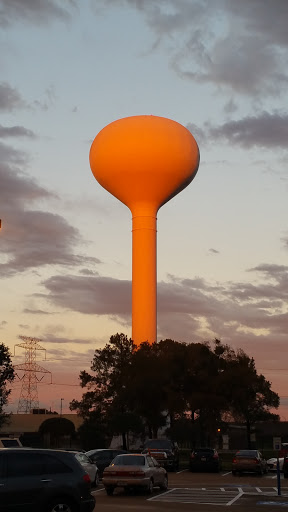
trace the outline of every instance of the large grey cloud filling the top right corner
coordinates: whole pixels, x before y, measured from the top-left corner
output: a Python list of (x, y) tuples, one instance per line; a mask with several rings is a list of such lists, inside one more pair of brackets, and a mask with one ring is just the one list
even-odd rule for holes
[[(263, 98), (287, 89), (287, 1), (122, 0), (138, 9), (183, 78)], [(97, 8), (119, 6), (100, 0)]]

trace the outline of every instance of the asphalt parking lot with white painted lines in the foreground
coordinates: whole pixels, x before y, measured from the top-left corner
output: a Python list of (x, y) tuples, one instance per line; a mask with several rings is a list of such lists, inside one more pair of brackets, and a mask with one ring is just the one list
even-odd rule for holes
[(235, 507), (237, 512), (267, 510), (288, 510), (288, 480), (281, 474), (281, 496), (278, 496), (277, 475), (264, 476), (244, 474), (233, 476), (231, 472), (191, 473), (183, 470), (169, 473), (169, 488), (165, 492), (155, 489), (152, 495), (145, 493), (127, 494), (116, 489), (113, 496), (107, 496), (103, 485), (93, 491), (97, 510), (105, 512), (145, 511), (147, 512), (197, 512), (211, 511), (215, 506)]

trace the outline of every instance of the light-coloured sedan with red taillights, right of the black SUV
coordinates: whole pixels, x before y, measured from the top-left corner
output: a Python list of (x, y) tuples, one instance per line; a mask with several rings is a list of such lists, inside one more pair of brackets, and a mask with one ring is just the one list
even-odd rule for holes
[(150, 455), (130, 453), (117, 455), (105, 468), (103, 484), (108, 496), (116, 487), (140, 488), (151, 494), (154, 486), (163, 490), (168, 488), (168, 476), (166, 469)]

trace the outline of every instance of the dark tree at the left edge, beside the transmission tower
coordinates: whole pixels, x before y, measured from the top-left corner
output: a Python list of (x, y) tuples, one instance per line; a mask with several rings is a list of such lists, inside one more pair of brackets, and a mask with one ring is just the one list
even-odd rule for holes
[(0, 343), (0, 427), (7, 421), (8, 414), (3, 412), (3, 407), (8, 403), (11, 389), (8, 387), (15, 378), (14, 368), (8, 347)]

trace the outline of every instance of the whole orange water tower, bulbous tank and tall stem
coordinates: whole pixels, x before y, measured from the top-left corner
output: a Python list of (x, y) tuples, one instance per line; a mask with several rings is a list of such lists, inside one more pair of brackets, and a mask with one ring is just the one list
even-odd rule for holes
[(96, 180), (132, 213), (132, 339), (157, 340), (157, 211), (183, 190), (199, 166), (189, 130), (157, 116), (118, 119), (90, 149)]

